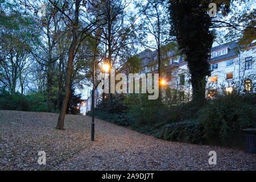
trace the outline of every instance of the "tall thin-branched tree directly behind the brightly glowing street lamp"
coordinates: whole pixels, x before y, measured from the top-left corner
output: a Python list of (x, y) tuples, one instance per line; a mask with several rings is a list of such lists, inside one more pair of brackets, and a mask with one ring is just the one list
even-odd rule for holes
[[(139, 16), (128, 14), (127, 9), (130, 3), (130, 1), (124, 0), (103, 1), (100, 4), (102, 24), (101, 26), (96, 24), (94, 36), (90, 35), (104, 49), (102, 57), (108, 61), (110, 68), (123, 68), (122, 66), (127, 63), (128, 58), (137, 50), (134, 44), (137, 43), (140, 35), (136, 34), (135, 22)], [(113, 105), (113, 93), (109, 93), (110, 105)]]

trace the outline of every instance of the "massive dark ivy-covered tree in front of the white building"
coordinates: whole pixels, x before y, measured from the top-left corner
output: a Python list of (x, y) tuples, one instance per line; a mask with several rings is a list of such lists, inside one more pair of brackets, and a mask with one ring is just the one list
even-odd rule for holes
[(209, 56), (212, 48), (213, 35), (209, 31), (212, 26), (207, 9), (209, 2), (170, 1), (171, 35), (176, 36), (182, 53), (186, 55), (193, 101), (203, 103), (205, 99), (205, 76), (210, 75)]

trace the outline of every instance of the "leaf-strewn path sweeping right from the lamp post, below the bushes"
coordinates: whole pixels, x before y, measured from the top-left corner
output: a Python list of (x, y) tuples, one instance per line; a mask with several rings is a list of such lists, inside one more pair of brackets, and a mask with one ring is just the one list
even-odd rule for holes
[[(90, 118), (86, 120), (90, 126)], [(168, 142), (96, 119), (97, 140), (65, 161), (64, 170), (255, 170), (255, 155), (222, 147)], [(209, 165), (209, 151), (217, 164)]]

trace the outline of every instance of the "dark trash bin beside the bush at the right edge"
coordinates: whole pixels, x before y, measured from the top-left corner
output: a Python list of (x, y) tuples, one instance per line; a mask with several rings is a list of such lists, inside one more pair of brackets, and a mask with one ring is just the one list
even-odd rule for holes
[(244, 129), (245, 140), (243, 142), (243, 148), (245, 153), (256, 154), (256, 129)]

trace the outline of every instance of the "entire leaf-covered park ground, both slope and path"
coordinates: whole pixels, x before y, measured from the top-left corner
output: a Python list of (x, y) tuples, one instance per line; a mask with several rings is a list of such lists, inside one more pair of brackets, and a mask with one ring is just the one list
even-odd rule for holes
[[(0, 110), (0, 170), (256, 170), (255, 155), (242, 150), (169, 142), (100, 119), (91, 142), (90, 117), (68, 114), (60, 131), (58, 116)], [(46, 165), (38, 164), (42, 150)]]

